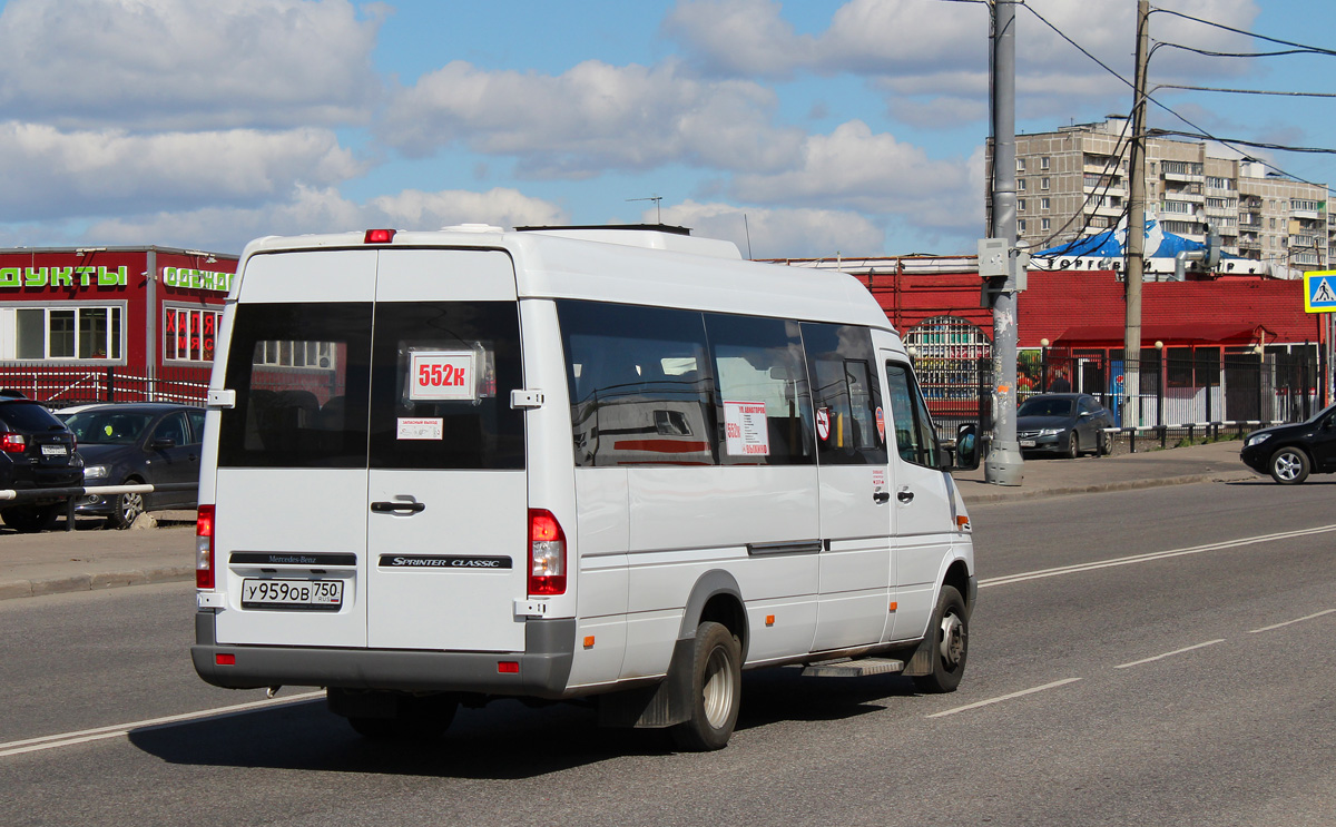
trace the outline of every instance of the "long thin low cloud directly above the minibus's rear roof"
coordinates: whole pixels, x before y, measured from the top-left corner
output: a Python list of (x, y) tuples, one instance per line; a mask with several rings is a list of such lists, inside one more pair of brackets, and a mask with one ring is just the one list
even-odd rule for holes
[(246, 242), (262, 235), (369, 227), (437, 230), (460, 223), (514, 227), (566, 222), (560, 207), (509, 188), (488, 192), (407, 190), (357, 203), (330, 187), (297, 187), (291, 199), (261, 207), (206, 207), (116, 218), (92, 224), (84, 235), (108, 244), (142, 244), (144, 239), (152, 239), (152, 243), (166, 246), (240, 253)]

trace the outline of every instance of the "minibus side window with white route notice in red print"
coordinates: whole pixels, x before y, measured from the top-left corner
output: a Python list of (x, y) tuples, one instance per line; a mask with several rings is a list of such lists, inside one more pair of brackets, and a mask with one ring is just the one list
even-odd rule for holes
[(798, 322), (705, 314), (723, 465), (811, 465), (812, 399)]

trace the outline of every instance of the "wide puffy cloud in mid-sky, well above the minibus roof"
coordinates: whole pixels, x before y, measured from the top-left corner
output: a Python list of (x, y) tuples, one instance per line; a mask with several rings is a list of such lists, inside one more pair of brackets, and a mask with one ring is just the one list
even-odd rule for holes
[(409, 155), (457, 143), (512, 155), (532, 178), (673, 163), (764, 170), (790, 163), (800, 138), (770, 126), (774, 106), (756, 83), (703, 81), (676, 61), (587, 60), (560, 76), (452, 61), (395, 95), (379, 134)]

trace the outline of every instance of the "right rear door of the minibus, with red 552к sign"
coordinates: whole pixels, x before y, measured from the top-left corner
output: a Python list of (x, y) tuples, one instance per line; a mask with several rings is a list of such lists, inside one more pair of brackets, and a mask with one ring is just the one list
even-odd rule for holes
[(528, 493), (514, 270), (381, 253), (371, 346), (367, 645), (524, 649)]

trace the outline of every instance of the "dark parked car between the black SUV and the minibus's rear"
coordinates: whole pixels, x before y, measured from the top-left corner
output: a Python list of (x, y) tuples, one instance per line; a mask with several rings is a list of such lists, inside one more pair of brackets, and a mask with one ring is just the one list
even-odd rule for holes
[(112, 528), (128, 528), (146, 510), (195, 508), (199, 497), (199, 444), (204, 411), (168, 402), (94, 405), (65, 425), (79, 441), (83, 485), (192, 482), (188, 490), (152, 494), (90, 493), (76, 514), (104, 516)]

